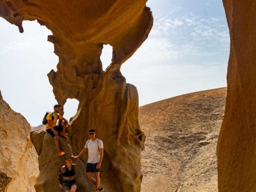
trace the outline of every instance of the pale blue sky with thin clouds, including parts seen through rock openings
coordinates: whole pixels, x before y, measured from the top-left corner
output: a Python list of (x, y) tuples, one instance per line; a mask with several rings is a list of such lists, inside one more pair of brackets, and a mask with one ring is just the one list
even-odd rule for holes
[[(227, 86), (230, 49), (222, 1), (149, 0), (154, 26), (148, 39), (122, 65), (127, 83), (138, 88), (140, 106), (184, 93)], [(58, 57), (47, 42), (51, 31), (25, 21), (24, 33), (0, 18), (0, 90), (11, 108), (40, 125), (56, 104), (47, 73)], [(111, 63), (104, 46), (103, 69)], [(75, 115), (77, 100), (65, 104), (65, 117)]]

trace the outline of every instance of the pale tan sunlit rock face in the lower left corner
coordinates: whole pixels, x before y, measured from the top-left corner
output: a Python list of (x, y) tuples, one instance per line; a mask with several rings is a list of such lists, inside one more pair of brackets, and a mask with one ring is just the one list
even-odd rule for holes
[(35, 191), (39, 170), (30, 131), (24, 116), (15, 113), (0, 92), (0, 191)]

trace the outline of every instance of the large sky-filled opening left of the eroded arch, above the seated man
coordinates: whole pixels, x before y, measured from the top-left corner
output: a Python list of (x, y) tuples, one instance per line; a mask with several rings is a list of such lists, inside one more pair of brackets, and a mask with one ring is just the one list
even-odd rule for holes
[(56, 71), (58, 56), (47, 42), (49, 29), (30, 21), (23, 27), (19, 33), (17, 26), (0, 18), (0, 90), (10, 107), (36, 126), (57, 103), (47, 74)]

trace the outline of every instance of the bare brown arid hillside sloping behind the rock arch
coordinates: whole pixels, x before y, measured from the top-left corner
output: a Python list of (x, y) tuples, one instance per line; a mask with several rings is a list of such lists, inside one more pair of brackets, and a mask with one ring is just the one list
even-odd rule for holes
[(218, 191), (216, 143), (227, 88), (180, 95), (140, 108), (147, 136), (141, 191)]

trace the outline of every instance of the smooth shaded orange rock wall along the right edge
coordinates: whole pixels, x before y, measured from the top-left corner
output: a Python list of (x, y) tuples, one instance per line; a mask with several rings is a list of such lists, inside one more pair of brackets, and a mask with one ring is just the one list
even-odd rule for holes
[(227, 103), (218, 140), (219, 191), (256, 191), (255, 6), (223, 0), (230, 31)]

